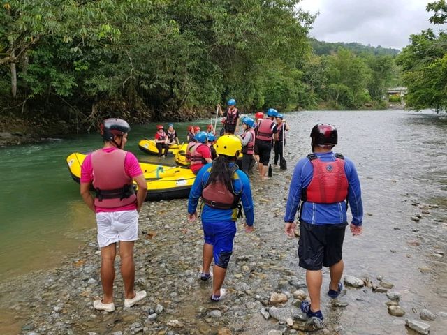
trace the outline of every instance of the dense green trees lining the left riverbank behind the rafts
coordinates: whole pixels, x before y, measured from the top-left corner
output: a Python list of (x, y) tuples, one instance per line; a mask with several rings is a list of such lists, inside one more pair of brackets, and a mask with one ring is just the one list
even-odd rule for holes
[(188, 120), (230, 97), (244, 112), (382, 107), (395, 51), (318, 44), (299, 2), (3, 0), (0, 124)]

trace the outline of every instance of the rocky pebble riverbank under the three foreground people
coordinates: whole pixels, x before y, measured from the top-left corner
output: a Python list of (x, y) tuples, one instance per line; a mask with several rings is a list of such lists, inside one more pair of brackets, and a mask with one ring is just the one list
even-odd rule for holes
[[(274, 173), (284, 184), (285, 198), (291, 172)], [(402, 298), (408, 292), (400, 292), (399, 285), (383, 277), (385, 269), (381, 274), (364, 270), (353, 274), (349, 268), (344, 278), (346, 295), (331, 300), (323, 294), (323, 329), (315, 320), (307, 320), (298, 308), (307, 297), (305, 272), (298, 269), (296, 258), (298, 240), (286, 239), (282, 231), (284, 206), (269, 193), (273, 184), (274, 179), (263, 184), (254, 181), (256, 231), (245, 234), (239, 225), (223, 301), (212, 304), (211, 283), (198, 280), (202, 230), (200, 222), (186, 220), (186, 200), (152, 202), (140, 214), (135, 248), (136, 289), (146, 290), (147, 299), (132, 308), (123, 307), (117, 259), (117, 309), (114, 313), (94, 310), (92, 303), (101, 295), (101, 258), (95, 230), (90, 230), (82, 237), (85, 244), (80, 251), (69, 255), (61, 267), (0, 285), (1, 315), (9, 319), (9, 323), (0, 322), (2, 334), (274, 335), (314, 330), (315, 334), (406, 334), (410, 328), (428, 334), (430, 322), (447, 321), (446, 311), (411, 306)], [(422, 214), (433, 207), (420, 208)], [(420, 214), (414, 218), (423, 218)], [(443, 252), (438, 247), (440, 258)], [(328, 271), (323, 273), (324, 291)], [(389, 327), (400, 332), (387, 332)]]

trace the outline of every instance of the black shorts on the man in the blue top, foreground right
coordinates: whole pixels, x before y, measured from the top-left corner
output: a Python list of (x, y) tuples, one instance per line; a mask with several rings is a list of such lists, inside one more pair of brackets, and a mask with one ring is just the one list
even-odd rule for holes
[(343, 258), (344, 223), (341, 225), (309, 225), (300, 222), (298, 242), (299, 265), (307, 270), (321, 270), (332, 267)]

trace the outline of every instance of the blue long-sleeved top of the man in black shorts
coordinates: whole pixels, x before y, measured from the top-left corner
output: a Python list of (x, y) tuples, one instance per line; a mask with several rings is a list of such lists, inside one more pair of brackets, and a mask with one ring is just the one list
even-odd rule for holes
[[(330, 151), (324, 154), (316, 154), (323, 162), (335, 161), (335, 154)], [(344, 158), (344, 172), (348, 179), (348, 200), (351, 207), (352, 224), (362, 225), (363, 205), (360, 181), (354, 163)], [(301, 201), (302, 189), (309, 186), (314, 174), (314, 166), (308, 158), (302, 158), (295, 166), (291, 187), (288, 193), (286, 215), (284, 222), (294, 222), (295, 215)], [(329, 225), (346, 223), (346, 202), (333, 204), (320, 204), (316, 202), (304, 202), (302, 204), (301, 220), (313, 225)]]

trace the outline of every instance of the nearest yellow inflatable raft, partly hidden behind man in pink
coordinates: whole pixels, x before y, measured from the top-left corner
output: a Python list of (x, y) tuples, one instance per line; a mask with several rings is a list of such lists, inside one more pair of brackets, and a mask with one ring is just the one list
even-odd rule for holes
[[(81, 165), (87, 154), (75, 152), (66, 158), (71, 177), (80, 183)], [(189, 168), (140, 162), (147, 181), (147, 201), (188, 198), (196, 175)]]

